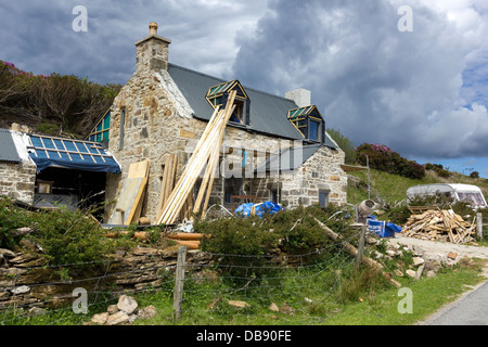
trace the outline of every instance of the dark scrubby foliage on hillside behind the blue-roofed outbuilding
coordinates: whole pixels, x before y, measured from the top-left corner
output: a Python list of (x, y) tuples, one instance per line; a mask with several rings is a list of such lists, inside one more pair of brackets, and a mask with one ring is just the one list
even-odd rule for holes
[(2, 117), (5, 121), (13, 117), (48, 134), (86, 136), (108, 110), (120, 88), (73, 75), (34, 75), (0, 61)]

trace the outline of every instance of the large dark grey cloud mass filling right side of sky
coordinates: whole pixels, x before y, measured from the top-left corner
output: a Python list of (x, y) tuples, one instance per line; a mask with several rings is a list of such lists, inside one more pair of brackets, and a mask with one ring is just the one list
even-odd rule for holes
[[(398, 30), (402, 4), (412, 8), (412, 33)], [(310, 89), (328, 127), (357, 144), (385, 143), (406, 156), (486, 155), (488, 94), (472, 97), (486, 86), (477, 67), (487, 61), (486, 18), (472, 4), (271, 1), (254, 36), (239, 41), (234, 73), (280, 94)], [(473, 72), (463, 74), (466, 66)]]

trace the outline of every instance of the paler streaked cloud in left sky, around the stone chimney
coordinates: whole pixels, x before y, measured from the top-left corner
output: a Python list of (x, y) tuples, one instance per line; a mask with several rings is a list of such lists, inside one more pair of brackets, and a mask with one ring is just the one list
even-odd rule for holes
[[(88, 11), (88, 31), (76, 33), (73, 9)], [(101, 83), (125, 83), (134, 72), (133, 43), (149, 23), (169, 38), (169, 59), (216, 76), (230, 76), (236, 31), (254, 27), (261, 0), (23, 0), (0, 3), (0, 60), (36, 74), (74, 74)]]

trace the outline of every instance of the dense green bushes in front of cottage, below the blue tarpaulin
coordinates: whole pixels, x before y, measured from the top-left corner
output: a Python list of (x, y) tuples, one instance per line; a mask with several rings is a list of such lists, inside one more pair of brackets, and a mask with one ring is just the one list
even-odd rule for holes
[(222, 255), (219, 262), (227, 266), (229, 274), (260, 279), (271, 272), (269, 267), (266, 270), (261, 267), (272, 253), (303, 255), (300, 260), (304, 262), (319, 261), (331, 256), (331, 253), (335, 254), (332, 247), (328, 247), (328, 252), (324, 250), (320, 256), (314, 254), (331, 244), (314, 218), (326, 223), (342, 224), (337, 230), (347, 231), (345, 221), (328, 221), (333, 211), (336, 210), (300, 206), (281, 210), (273, 216), (266, 215), (261, 219), (251, 216), (196, 220), (194, 230), (207, 235), (203, 237), (202, 248)]

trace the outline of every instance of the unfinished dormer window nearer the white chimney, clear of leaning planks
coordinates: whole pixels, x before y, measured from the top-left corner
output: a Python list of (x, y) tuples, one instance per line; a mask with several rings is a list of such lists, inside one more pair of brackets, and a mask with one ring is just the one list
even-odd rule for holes
[(325, 121), (316, 105), (290, 110), (288, 120), (306, 140), (323, 142), (325, 138)]

